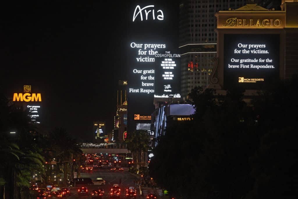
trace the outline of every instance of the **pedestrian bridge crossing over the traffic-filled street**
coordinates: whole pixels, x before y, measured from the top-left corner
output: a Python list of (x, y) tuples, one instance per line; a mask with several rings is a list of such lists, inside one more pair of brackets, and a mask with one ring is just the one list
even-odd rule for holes
[(80, 143), (78, 146), (83, 153), (130, 153), (126, 144), (119, 143)]

